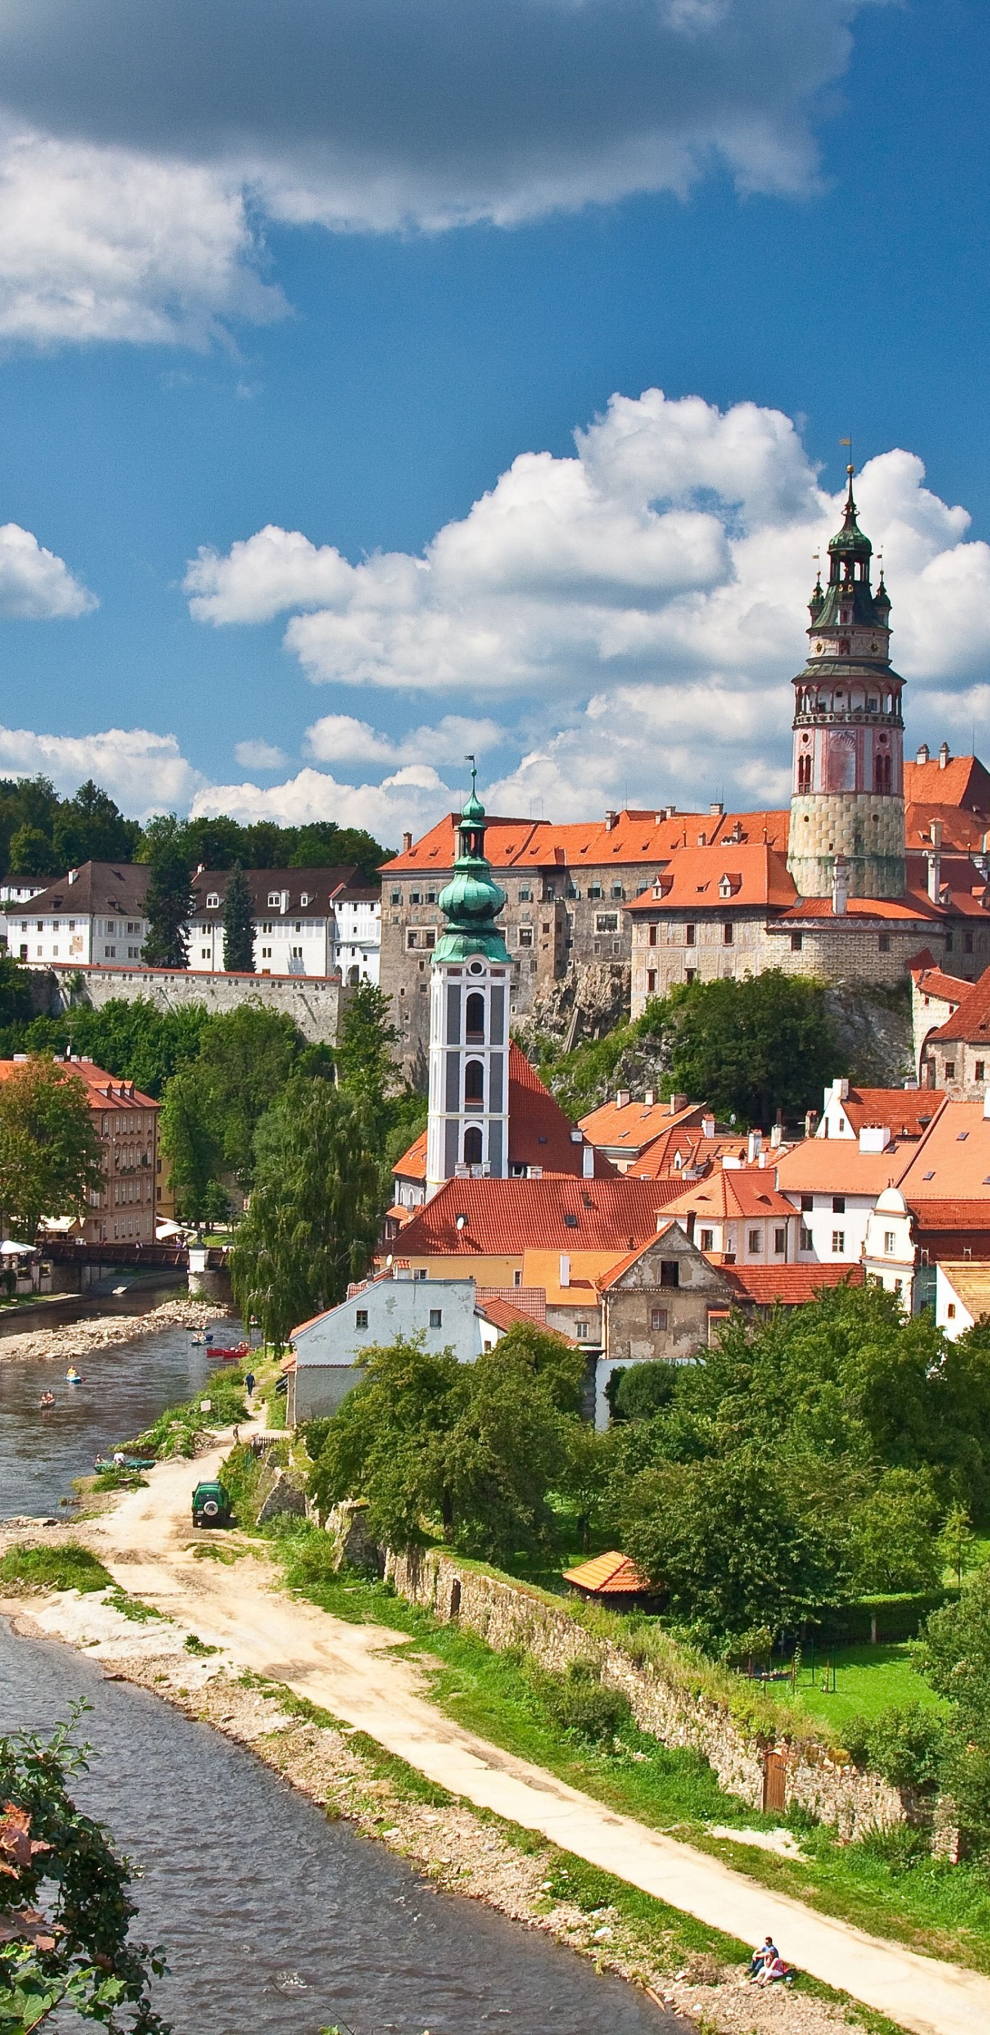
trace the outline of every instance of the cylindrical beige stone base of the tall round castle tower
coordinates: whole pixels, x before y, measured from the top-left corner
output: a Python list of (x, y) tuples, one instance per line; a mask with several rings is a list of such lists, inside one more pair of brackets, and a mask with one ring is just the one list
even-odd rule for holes
[(833, 857), (849, 863), (849, 897), (902, 897), (904, 800), (882, 792), (796, 792), (786, 865), (799, 897), (829, 897)]

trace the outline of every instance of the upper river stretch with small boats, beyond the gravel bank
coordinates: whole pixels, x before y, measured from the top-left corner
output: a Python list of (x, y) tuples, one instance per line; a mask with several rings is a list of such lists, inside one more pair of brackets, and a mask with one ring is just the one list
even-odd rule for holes
[[(232, 1317), (210, 1323), (214, 1347), (240, 1341)], [(65, 1357), (8, 1357), (0, 1343), (0, 1516), (57, 1512), (71, 1498), (71, 1479), (94, 1467), (94, 1455), (141, 1435), (165, 1406), (206, 1386), (216, 1370), (189, 1329), (136, 1335), (79, 1357), (86, 1384), (65, 1384)], [(55, 1406), (41, 1412), (43, 1392)], [(206, 1396), (206, 1392), (204, 1392)]]

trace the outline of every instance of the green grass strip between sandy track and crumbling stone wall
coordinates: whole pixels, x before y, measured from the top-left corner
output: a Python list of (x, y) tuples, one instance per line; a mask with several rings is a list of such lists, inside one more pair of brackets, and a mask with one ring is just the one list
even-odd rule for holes
[[(334, 1618), (375, 1620), (416, 1640), (428, 1697), (464, 1730), (546, 1766), (623, 1815), (723, 1858), (776, 1893), (911, 1950), (990, 1972), (990, 1878), (980, 1866), (933, 1860), (925, 1836), (906, 1829), (839, 1844), (801, 1811), (786, 1821), (805, 1858), (713, 1838), (709, 1823), (772, 1829), (780, 1819), (725, 1795), (699, 1754), (658, 1744), (631, 1720), (619, 1722), (605, 1744), (564, 1730), (544, 1701), (546, 1683), (519, 1654), (493, 1652), (475, 1634), (438, 1624), (385, 1583), (354, 1571), (334, 1573), (332, 1549), (314, 1528), (281, 1524), (265, 1528), (265, 1538), (293, 1591)], [(874, 1650), (900, 1654), (900, 1648)]]

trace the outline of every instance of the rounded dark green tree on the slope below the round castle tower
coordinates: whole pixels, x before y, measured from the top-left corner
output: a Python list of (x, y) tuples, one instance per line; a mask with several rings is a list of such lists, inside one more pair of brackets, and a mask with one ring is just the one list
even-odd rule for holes
[(772, 1123), (821, 1103), (835, 1058), (821, 983), (766, 969), (678, 985), (664, 1013), (672, 1087), (721, 1117)]

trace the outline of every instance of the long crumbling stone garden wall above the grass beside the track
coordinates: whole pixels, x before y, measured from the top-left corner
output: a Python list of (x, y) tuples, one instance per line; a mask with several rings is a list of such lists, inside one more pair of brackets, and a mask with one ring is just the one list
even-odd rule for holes
[(664, 1746), (701, 1752), (721, 1787), (741, 1795), (754, 1809), (762, 1807), (764, 1797), (764, 1756), (774, 1750), (786, 1760), (788, 1805), (799, 1803), (823, 1823), (835, 1823), (841, 1836), (854, 1838), (872, 1825), (906, 1819), (900, 1793), (880, 1775), (839, 1762), (811, 1734), (778, 1740), (748, 1736), (715, 1695), (695, 1695), (666, 1679), (656, 1663), (638, 1663), (623, 1646), (589, 1632), (564, 1604), (550, 1604), (526, 1583), (487, 1575), (442, 1549), (389, 1551), (385, 1579), (434, 1618), (456, 1618), (495, 1652), (521, 1648), (556, 1673), (566, 1671), (572, 1661), (593, 1661), (603, 1683), (627, 1697), (640, 1730), (660, 1738)]

